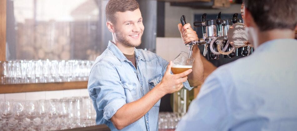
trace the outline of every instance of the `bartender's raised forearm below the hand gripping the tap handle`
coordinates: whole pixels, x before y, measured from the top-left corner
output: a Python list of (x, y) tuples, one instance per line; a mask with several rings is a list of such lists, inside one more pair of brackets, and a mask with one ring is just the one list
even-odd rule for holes
[(191, 87), (197, 87), (203, 83), (204, 78), (203, 62), (197, 45), (194, 46), (193, 57), (195, 58), (192, 67), (193, 71), (188, 75), (188, 81)]

